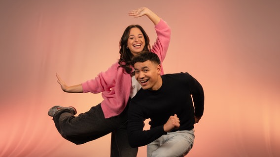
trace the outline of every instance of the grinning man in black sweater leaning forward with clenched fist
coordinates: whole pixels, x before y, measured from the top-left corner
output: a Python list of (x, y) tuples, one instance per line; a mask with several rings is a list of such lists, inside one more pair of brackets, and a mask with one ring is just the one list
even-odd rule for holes
[[(152, 52), (141, 52), (132, 64), (142, 88), (129, 105), (130, 145), (147, 145), (147, 157), (185, 156), (193, 146), (194, 124), (204, 111), (201, 84), (188, 73), (161, 76), (160, 60)], [(148, 118), (150, 130), (143, 131)]]

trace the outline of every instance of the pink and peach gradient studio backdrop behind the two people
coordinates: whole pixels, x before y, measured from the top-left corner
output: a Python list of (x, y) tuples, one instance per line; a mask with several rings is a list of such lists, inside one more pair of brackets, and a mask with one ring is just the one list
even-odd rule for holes
[(102, 97), (64, 93), (55, 73), (69, 85), (96, 77), (130, 24), (154, 43), (153, 24), (128, 16), (141, 6), (172, 28), (165, 73), (189, 72), (205, 90), (188, 157), (280, 156), (280, 1), (0, 0), (0, 157), (109, 157), (110, 134), (75, 145), (56, 130), (51, 106), (82, 113)]

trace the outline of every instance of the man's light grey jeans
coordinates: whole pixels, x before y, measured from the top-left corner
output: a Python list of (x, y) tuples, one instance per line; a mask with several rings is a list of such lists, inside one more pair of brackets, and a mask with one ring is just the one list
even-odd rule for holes
[(147, 157), (184, 157), (194, 142), (194, 129), (162, 135), (147, 145)]

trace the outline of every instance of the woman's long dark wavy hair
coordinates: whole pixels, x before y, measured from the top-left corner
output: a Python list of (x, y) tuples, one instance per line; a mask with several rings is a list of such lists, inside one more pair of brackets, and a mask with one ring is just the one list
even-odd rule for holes
[(133, 57), (133, 54), (130, 52), (130, 50), (127, 48), (127, 41), (129, 38), (129, 32), (131, 28), (139, 28), (140, 31), (142, 32), (144, 39), (145, 39), (145, 46), (143, 51), (150, 51), (151, 46), (150, 46), (150, 39), (147, 35), (147, 33), (144, 31), (144, 29), (140, 25), (130, 25), (126, 27), (126, 29), (123, 32), (123, 35), (121, 37), (121, 40), (119, 42), (120, 46), (120, 59), (119, 59), (119, 67), (123, 68), (123, 70), (131, 74), (132, 73), (132, 68), (131, 68), (131, 59)]

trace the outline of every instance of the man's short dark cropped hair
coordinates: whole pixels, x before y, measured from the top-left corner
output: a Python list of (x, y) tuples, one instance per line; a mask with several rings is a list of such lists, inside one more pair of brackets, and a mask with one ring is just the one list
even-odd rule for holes
[(158, 55), (156, 53), (148, 52), (148, 51), (143, 51), (143, 52), (140, 52), (139, 54), (135, 55), (132, 58), (131, 64), (134, 66), (134, 64), (137, 62), (143, 63), (147, 60), (160, 64), (160, 59), (159, 59)]

